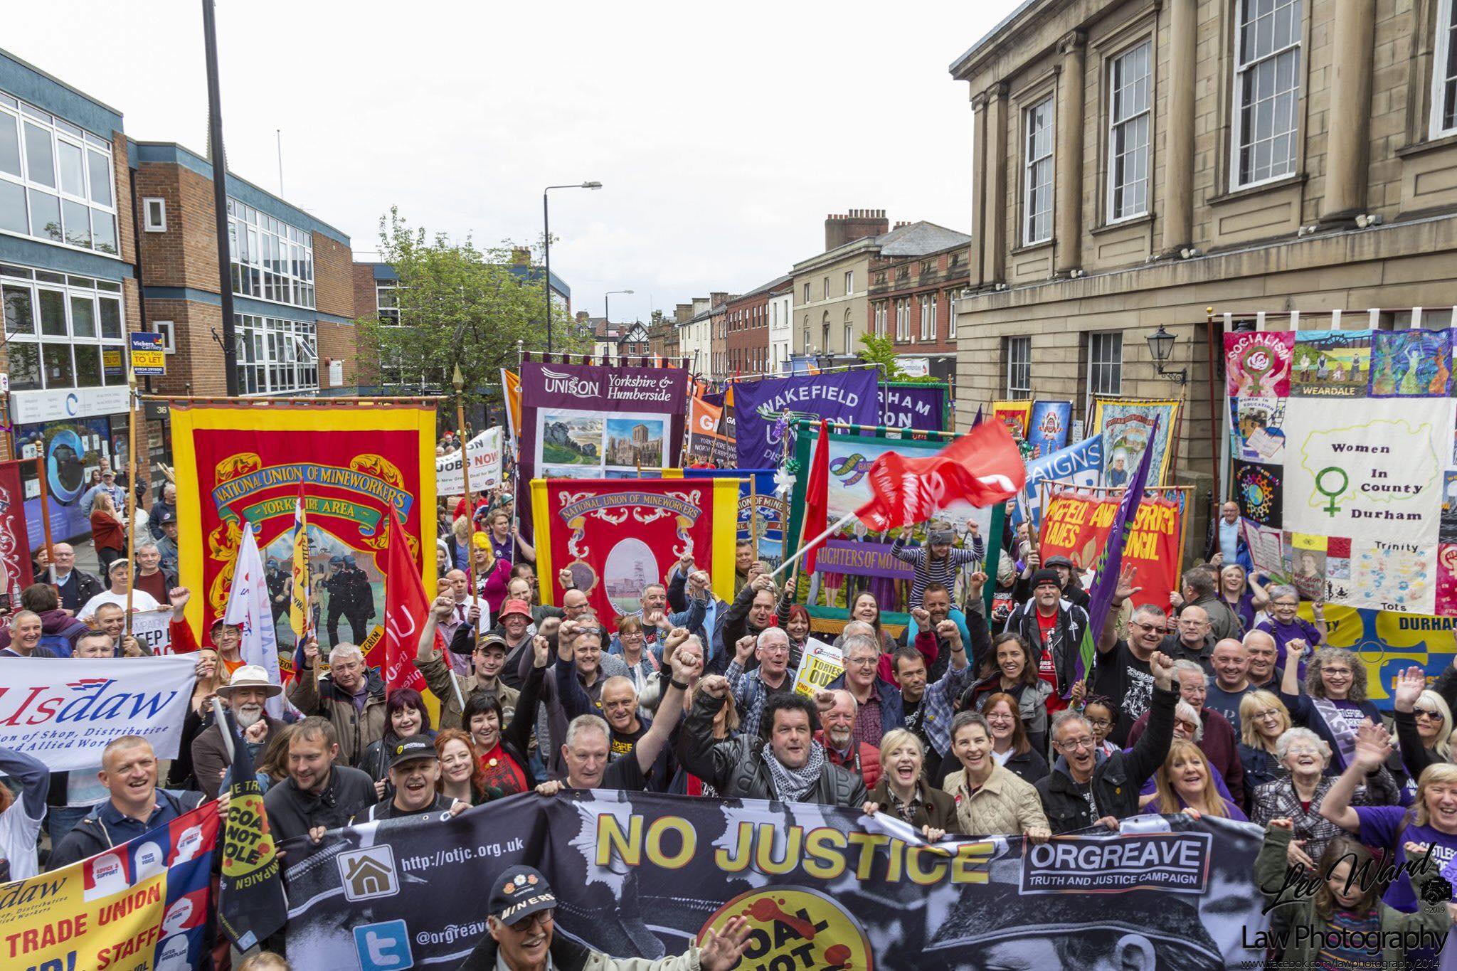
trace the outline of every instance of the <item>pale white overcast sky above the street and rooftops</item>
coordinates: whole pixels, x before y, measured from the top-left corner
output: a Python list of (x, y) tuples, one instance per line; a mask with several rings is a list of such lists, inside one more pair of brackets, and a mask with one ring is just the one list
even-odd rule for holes
[[(970, 223), (972, 111), (947, 66), (1014, 0), (219, 0), (229, 167), (377, 249), (390, 205), (481, 246), (541, 236), (573, 307), (648, 316), (823, 249), (828, 213)], [(0, 45), (207, 148), (198, 0), (6, 4)], [(651, 303), (650, 303), (651, 301)]]

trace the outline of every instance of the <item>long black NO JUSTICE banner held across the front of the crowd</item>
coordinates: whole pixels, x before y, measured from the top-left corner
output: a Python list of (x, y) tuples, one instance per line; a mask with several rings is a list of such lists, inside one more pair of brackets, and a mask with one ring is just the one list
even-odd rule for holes
[[(1247, 823), (1144, 815), (1033, 846), (924, 843), (898, 818), (759, 799), (523, 793), (456, 818), (287, 844), (288, 959), (310, 971), (455, 967), (488, 936), (490, 888), (538, 866), (557, 933), (616, 958), (682, 954), (749, 920), (743, 968), (1141, 967), (1263, 961)], [(1020, 962), (1016, 967), (1023, 967)]]

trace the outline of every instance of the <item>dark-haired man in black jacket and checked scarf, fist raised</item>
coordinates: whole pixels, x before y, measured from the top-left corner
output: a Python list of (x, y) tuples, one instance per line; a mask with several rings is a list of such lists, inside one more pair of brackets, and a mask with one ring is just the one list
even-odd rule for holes
[(814, 741), (819, 712), (803, 694), (774, 694), (763, 705), (759, 738), (714, 740), (714, 715), (723, 708), (728, 681), (707, 675), (699, 683), (683, 731), (678, 760), (723, 798), (781, 799), (855, 808), (867, 802), (860, 776), (833, 764)]

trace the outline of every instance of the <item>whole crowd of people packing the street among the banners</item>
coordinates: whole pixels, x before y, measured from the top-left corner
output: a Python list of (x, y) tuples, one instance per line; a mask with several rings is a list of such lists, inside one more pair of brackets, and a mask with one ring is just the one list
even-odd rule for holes
[[(96, 508), (106, 514), (108, 502), (103, 486)], [(175, 502), (170, 488), (163, 502)], [(915, 571), (905, 629), (860, 590), (839, 630), (816, 632), (796, 603), (801, 581), (777, 582), (746, 543), (731, 587), (715, 590), (704, 563), (683, 556), (619, 617), (597, 616), (570, 569), (552, 578), (559, 606), (543, 606), (508, 494), (441, 505), (440, 594), (414, 657), (439, 708), (414, 690), (386, 694), (357, 626), (354, 641), (329, 632), (328, 649), (303, 645), (287, 686), (243, 661), (236, 626), (216, 622), (200, 646), (182, 622), (191, 592), (176, 585), (175, 546), (150, 530), (133, 560), (105, 562), (105, 581), (55, 544), (54, 584), (23, 591), (0, 657), (144, 657), (127, 633), (130, 603), (172, 610), (172, 652), (195, 657), (197, 681), (169, 764), (136, 737), (111, 742), (90, 772), (50, 773), (0, 750), (16, 789), (13, 799), (0, 789), (7, 876), (79, 860), (226, 796), (214, 699), (236, 719), (280, 841), (606, 788), (881, 812), (928, 840), (1040, 843), (1142, 812), (1220, 817), (1268, 828), (1265, 871), (1278, 859), (1329, 875), (1359, 852), (1403, 860), (1429, 850), (1442, 866), (1457, 856), (1457, 670), (1432, 687), (1409, 670), (1389, 728), (1367, 697), (1367, 668), (1326, 643), (1321, 604), (1304, 620), (1298, 590), (1253, 575), (1227, 514), (1180, 590), (1144, 595), (1135, 571), (1118, 578), (1093, 632), (1096, 664), (1080, 680), (1093, 623), (1084, 576), (1067, 559), (1042, 562), (1024, 530), (972, 530), (963, 547), (941, 526), (925, 546), (900, 537), (895, 555)], [(165, 530), (175, 512), (156, 520)], [(1010, 565), (994, 591), (982, 571), (989, 542)], [(1005, 609), (988, 607), (998, 600)], [(803, 693), (796, 671), (810, 638), (833, 639), (844, 674)], [(272, 699), (286, 702), (284, 718), (268, 713)], [(1292, 920), (1386, 926), (1381, 907), (1425, 920), (1423, 885), (1403, 875), (1380, 898), (1333, 888)], [(549, 908), (498, 919), (510, 905), (492, 901), (485, 952), (557, 954)], [(742, 948), (736, 926), (695, 949), (698, 967), (731, 967)], [(1295, 956), (1335, 967), (1321, 964), (1332, 955)]]

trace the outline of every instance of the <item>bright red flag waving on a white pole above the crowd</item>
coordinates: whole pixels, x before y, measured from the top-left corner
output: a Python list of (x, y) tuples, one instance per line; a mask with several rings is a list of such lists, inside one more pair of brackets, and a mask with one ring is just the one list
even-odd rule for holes
[(883, 533), (924, 523), (956, 502), (1004, 502), (1021, 491), (1027, 469), (1007, 425), (982, 422), (930, 459), (884, 453), (868, 480), (871, 499), (855, 515)]

